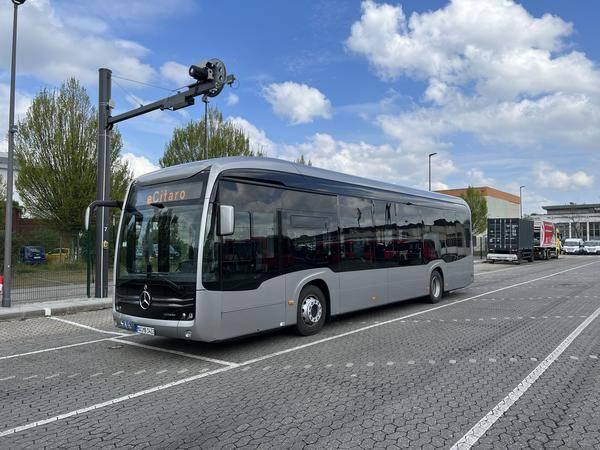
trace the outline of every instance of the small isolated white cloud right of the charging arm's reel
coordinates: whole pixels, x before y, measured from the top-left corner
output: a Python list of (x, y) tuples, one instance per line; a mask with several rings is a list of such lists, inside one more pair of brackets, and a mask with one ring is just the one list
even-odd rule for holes
[(275, 114), (294, 125), (312, 122), (317, 117), (331, 117), (331, 103), (327, 97), (306, 84), (272, 83), (263, 89), (263, 96), (273, 106)]

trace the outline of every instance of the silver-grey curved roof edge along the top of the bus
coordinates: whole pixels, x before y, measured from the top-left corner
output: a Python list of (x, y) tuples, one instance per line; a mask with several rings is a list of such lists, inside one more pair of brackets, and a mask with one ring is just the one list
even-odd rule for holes
[(266, 157), (235, 156), (194, 161), (150, 172), (138, 177), (136, 181), (141, 184), (155, 184), (175, 181), (196, 175), (198, 172), (209, 167), (211, 168), (211, 171), (216, 171), (217, 173), (231, 169), (263, 169), (279, 172), (291, 172), (307, 177), (321, 178), (325, 180), (338, 181), (341, 183), (349, 183), (357, 186), (364, 186), (372, 189), (408, 194), (415, 197), (434, 199), (446, 203), (454, 203), (465, 206), (467, 205), (467, 203), (460, 197), (439, 194), (437, 192), (423, 191), (420, 189), (414, 189), (392, 183), (384, 183), (381, 181), (370, 180), (368, 178), (354, 175), (347, 175), (331, 170), (319, 169), (317, 167), (307, 166), (305, 164), (297, 164), (283, 159)]

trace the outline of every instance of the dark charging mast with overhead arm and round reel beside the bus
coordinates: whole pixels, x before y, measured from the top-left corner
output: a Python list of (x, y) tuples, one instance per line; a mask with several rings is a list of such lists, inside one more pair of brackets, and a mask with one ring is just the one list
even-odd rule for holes
[(210, 59), (193, 64), (189, 68), (190, 77), (195, 83), (187, 86), (183, 92), (178, 92), (170, 97), (165, 97), (139, 108), (132, 109), (122, 114), (112, 116), (111, 100), (111, 74), (110, 69), (99, 69), (98, 83), (98, 182), (96, 185), (96, 201), (86, 212), (86, 228), (89, 229), (91, 213), (99, 208), (96, 218), (96, 268), (94, 296), (96, 298), (108, 297), (108, 212), (111, 207), (120, 206), (121, 202), (110, 200), (110, 130), (119, 122), (123, 122), (142, 114), (156, 111), (176, 111), (195, 103), (199, 95), (216, 97), (225, 85), (231, 85), (235, 77), (227, 75), (225, 64), (218, 59)]

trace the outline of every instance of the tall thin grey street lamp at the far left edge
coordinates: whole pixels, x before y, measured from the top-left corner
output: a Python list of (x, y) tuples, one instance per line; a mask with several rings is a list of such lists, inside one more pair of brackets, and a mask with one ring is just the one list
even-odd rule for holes
[(10, 100), (8, 107), (8, 155), (6, 167), (6, 220), (4, 222), (4, 288), (2, 291), (2, 306), (10, 307), (11, 269), (12, 269), (12, 197), (13, 197), (13, 153), (15, 148), (15, 78), (17, 65), (17, 11), (25, 0), (12, 0), (13, 16), (13, 45), (10, 66)]

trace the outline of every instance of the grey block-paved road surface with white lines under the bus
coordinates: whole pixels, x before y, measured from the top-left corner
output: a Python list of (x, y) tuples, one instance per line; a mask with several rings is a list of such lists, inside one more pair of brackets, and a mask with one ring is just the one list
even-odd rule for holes
[(476, 274), (308, 338), (2, 322), (0, 448), (599, 448), (600, 258)]

